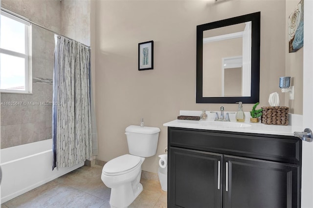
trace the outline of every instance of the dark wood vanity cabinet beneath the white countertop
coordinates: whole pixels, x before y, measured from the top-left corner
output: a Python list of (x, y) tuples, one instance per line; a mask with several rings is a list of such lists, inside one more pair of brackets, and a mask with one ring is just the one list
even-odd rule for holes
[(168, 127), (169, 208), (300, 208), (302, 142)]

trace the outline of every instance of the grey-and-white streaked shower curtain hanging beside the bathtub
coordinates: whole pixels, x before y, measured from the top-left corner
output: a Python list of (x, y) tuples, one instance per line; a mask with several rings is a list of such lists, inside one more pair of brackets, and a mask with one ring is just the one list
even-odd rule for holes
[(90, 48), (58, 36), (52, 106), (53, 167), (91, 157)]

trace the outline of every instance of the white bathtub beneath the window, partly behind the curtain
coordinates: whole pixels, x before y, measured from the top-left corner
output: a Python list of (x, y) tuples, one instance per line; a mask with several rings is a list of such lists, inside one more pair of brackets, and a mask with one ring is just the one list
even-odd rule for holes
[(84, 165), (52, 171), (52, 139), (4, 148), (0, 154), (1, 203)]

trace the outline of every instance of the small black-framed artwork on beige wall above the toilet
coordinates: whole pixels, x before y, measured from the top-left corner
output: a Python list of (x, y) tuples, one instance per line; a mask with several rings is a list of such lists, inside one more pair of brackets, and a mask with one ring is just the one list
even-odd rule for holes
[(138, 43), (138, 70), (153, 69), (153, 41)]

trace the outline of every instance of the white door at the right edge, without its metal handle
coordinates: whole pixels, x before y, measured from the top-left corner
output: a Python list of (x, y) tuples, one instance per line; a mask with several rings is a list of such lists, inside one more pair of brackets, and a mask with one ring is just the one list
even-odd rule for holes
[[(313, 130), (313, 0), (304, 0), (303, 129)], [(313, 208), (313, 142), (302, 143), (301, 208)]]

